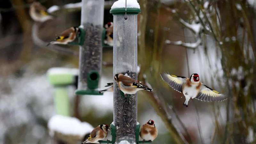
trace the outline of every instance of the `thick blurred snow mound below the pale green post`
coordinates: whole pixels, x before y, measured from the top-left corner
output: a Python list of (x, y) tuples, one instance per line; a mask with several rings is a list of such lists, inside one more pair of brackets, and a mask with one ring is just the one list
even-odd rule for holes
[(55, 115), (48, 121), (50, 135), (54, 132), (60, 132), (66, 135), (79, 135), (84, 137), (85, 134), (92, 132), (93, 127), (87, 122), (81, 122), (75, 117)]

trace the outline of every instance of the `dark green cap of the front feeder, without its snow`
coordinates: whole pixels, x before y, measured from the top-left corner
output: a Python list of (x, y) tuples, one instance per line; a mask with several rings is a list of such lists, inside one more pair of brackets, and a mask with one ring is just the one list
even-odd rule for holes
[[(140, 13), (140, 9), (139, 8), (126, 8), (126, 14), (127, 15), (138, 15)], [(112, 13), (113, 15), (125, 15), (125, 7), (123, 8), (112, 8), (110, 10), (110, 13)]]

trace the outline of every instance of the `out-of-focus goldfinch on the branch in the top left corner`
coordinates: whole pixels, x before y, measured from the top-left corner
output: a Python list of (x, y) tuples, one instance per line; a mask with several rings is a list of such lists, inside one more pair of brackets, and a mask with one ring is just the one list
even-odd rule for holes
[(33, 2), (29, 9), (30, 17), (38, 22), (44, 22), (46, 20), (53, 19), (53, 15), (46, 12), (46, 8), (39, 2)]

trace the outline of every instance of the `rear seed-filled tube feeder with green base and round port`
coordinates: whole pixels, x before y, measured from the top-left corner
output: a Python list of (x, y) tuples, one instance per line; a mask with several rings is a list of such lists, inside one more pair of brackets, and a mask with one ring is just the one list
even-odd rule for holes
[(80, 28), (84, 28), (85, 40), (79, 51), (77, 95), (102, 95), (95, 89), (101, 75), (103, 16), (104, 0), (82, 0)]

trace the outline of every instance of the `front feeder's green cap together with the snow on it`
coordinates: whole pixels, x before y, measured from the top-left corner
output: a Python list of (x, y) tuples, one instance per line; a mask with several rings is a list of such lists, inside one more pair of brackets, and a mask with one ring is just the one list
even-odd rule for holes
[[(126, 2), (126, 5), (125, 5)], [(140, 13), (140, 5), (137, 0), (118, 0), (116, 1), (110, 10), (113, 15), (138, 15)]]

